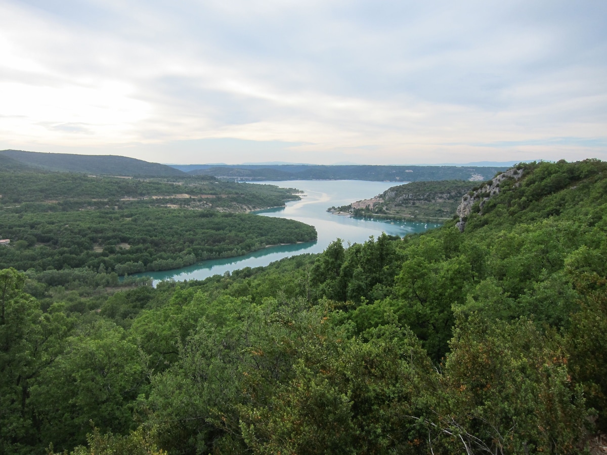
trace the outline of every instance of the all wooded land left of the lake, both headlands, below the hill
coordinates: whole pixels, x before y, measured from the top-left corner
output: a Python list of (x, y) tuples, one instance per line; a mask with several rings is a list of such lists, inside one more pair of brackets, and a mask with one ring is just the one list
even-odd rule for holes
[(10, 240), (0, 268), (126, 275), (314, 240), (313, 226), (242, 213), (284, 206), (296, 193), (209, 178), (0, 170), (0, 238)]

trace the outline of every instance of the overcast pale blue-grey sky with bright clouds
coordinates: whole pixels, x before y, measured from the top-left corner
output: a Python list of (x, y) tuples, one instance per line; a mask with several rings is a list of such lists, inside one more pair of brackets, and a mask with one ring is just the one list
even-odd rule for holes
[(0, 149), (607, 160), (607, 1), (0, 0)]

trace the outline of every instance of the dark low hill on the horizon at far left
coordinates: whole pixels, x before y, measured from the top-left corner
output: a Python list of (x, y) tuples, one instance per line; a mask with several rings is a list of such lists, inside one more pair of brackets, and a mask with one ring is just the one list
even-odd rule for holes
[(12, 170), (49, 170), (55, 172), (80, 172), (95, 175), (124, 177), (177, 177), (181, 170), (166, 164), (148, 163), (136, 158), (115, 155), (75, 155), (72, 153), (25, 152), (24, 150), (0, 150), (0, 167)]

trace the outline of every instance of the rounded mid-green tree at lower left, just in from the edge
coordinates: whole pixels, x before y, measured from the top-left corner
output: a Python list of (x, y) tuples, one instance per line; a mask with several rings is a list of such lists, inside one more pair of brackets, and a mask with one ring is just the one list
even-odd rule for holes
[(134, 428), (135, 399), (147, 382), (145, 360), (114, 323), (81, 326), (32, 386), (41, 440), (61, 449), (84, 443), (90, 421), (101, 431)]

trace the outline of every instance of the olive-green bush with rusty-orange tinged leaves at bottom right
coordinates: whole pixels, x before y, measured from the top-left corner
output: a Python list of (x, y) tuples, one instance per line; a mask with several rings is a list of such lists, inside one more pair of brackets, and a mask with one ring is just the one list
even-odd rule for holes
[(439, 439), (491, 453), (577, 453), (588, 411), (558, 336), (473, 315), (458, 321), (451, 348)]

